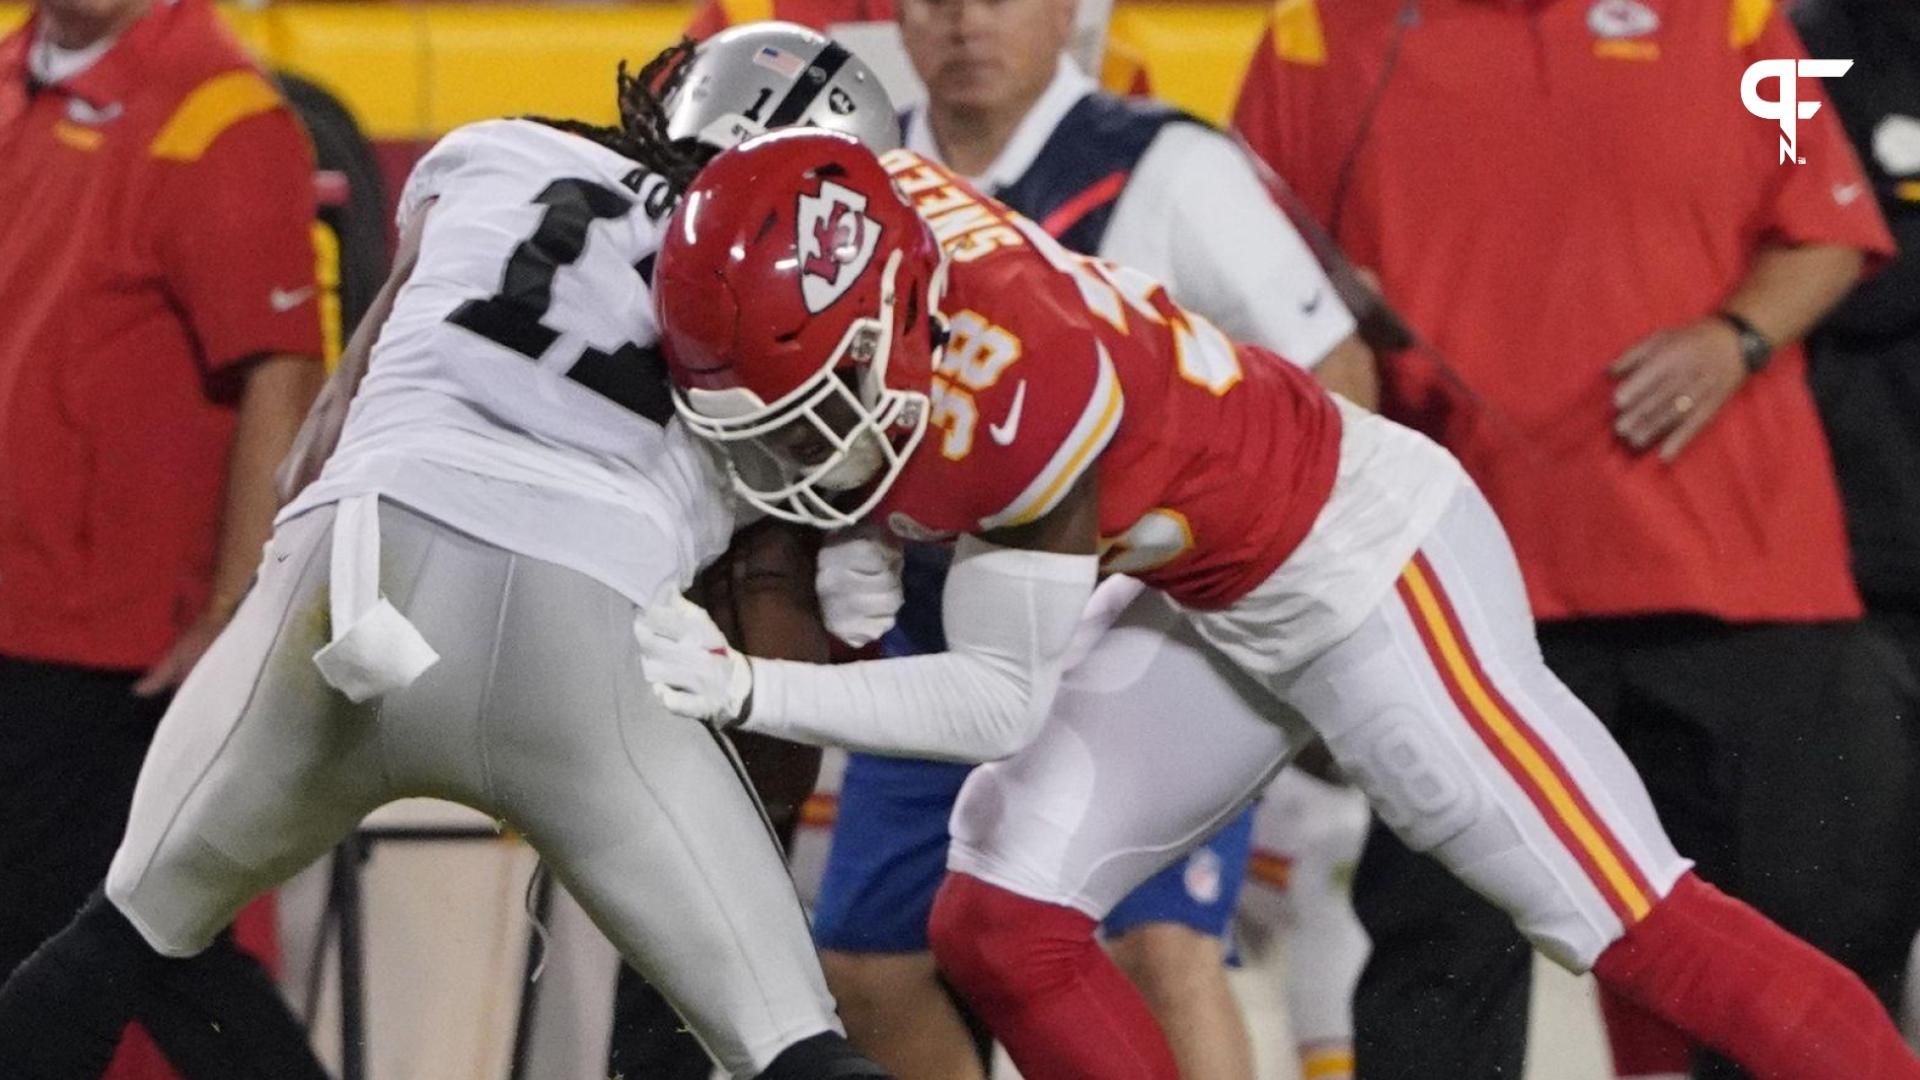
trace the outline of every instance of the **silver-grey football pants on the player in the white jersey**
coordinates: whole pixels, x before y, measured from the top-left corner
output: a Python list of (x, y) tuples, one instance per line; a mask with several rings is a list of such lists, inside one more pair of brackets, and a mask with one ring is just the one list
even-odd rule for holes
[(380, 584), (440, 661), (353, 705), (321, 680), (334, 507), (284, 523), (154, 740), (108, 896), (188, 955), (374, 807), (465, 803), (522, 832), (737, 1076), (839, 1030), (732, 748), (641, 676), (636, 605), (380, 505)]

